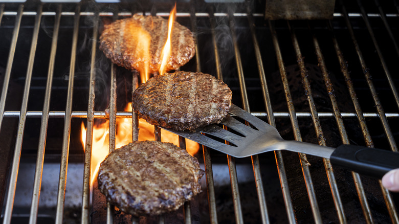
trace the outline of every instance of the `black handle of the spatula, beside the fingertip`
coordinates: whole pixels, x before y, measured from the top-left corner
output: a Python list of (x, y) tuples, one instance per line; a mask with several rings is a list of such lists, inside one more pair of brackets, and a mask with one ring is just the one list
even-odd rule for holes
[(330, 162), (355, 172), (382, 178), (399, 168), (399, 153), (357, 145), (341, 145), (331, 154)]

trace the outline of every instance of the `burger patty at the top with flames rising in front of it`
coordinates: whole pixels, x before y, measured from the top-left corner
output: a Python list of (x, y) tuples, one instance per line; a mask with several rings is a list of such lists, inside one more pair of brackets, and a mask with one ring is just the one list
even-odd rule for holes
[[(143, 32), (141, 32), (143, 31)], [(168, 20), (159, 16), (138, 15), (105, 25), (100, 36), (100, 49), (113, 63), (128, 70), (139, 70), (148, 61), (149, 72), (161, 66), (161, 53), (168, 35)], [(150, 39), (149, 55), (143, 56), (145, 39)], [(171, 54), (166, 71), (187, 63), (195, 54), (194, 38), (186, 27), (174, 22), (171, 34)]]

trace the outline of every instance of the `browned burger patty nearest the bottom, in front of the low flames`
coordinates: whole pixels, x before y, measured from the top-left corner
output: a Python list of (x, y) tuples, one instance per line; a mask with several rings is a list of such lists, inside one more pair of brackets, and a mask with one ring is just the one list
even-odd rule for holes
[(201, 192), (198, 160), (171, 143), (132, 142), (100, 165), (98, 186), (125, 213), (159, 215), (178, 209)]

